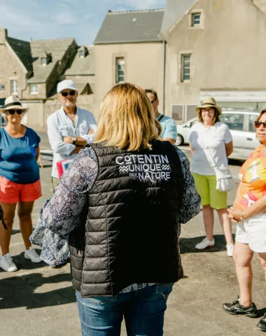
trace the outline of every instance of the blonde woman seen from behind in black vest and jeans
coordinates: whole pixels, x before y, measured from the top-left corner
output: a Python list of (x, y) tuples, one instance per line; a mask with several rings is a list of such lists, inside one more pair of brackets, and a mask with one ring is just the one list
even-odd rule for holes
[[(102, 102), (95, 143), (43, 207), (46, 237), (70, 232), (83, 335), (120, 335), (123, 316), (128, 335), (163, 334), (167, 297), (183, 276), (180, 223), (199, 213), (200, 197), (186, 155), (158, 141), (160, 132), (145, 92), (116, 85)], [(43, 244), (48, 263), (52, 245)]]

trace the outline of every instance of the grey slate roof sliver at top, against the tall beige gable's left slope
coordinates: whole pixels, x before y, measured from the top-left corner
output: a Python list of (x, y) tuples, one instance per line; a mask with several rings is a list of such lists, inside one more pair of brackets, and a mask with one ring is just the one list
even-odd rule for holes
[(161, 34), (170, 29), (176, 21), (182, 18), (195, 0), (167, 0), (165, 15), (162, 20)]

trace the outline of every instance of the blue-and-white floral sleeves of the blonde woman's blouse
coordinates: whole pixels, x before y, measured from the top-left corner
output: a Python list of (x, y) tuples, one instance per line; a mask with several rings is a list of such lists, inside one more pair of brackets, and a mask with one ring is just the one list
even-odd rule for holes
[[(180, 222), (187, 223), (200, 212), (200, 195), (190, 174), (188, 158), (176, 146), (175, 149), (185, 179)], [(43, 204), (30, 240), (31, 243), (42, 246), (41, 258), (48, 265), (62, 265), (69, 258), (69, 232), (80, 225), (80, 214), (86, 204), (87, 191), (92, 188), (97, 174), (98, 163), (94, 150), (86, 147), (62, 175), (55, 188), (55, 195)]]

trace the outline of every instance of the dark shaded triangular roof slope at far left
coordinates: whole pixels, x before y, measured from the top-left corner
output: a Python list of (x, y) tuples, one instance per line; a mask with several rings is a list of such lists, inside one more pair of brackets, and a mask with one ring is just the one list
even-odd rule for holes
[(22, 64), (27, 69), (29, 76), (33, 71), (31, 60), (31, 47), (27, 41), (17, 40), (16, 38), (7, 37), (8, 44), (18, 56)]

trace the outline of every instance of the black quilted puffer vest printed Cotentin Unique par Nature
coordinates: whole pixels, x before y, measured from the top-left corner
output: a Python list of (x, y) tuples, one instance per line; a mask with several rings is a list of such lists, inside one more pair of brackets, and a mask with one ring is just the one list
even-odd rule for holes
[(132, 283), (181, 279), (183, 174), (168, 141), (130, 153), (93, 144), (99, 173), (84, 226), (69, 237), (73, 286), (83, 297), (116, 295)]

